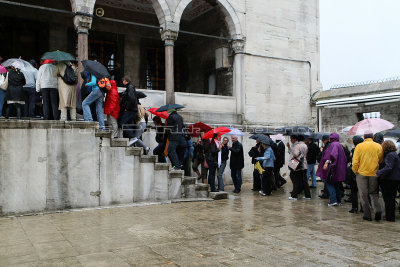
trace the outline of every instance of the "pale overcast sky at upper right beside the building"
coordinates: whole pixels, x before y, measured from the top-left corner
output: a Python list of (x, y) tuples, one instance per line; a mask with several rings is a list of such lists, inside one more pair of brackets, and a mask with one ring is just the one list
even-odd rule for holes
[(400, 76), (400, 0), (320, 0), (321, 81)]

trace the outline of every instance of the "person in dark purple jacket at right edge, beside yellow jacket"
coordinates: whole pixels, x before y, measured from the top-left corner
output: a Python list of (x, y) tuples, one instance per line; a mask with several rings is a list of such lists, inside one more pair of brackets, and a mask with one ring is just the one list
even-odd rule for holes
[(396, 146), (392, 141), (382, 143), (385, 166), (376, 176), (379, 177), (385, 201), (386, 221), (395, 221), (395, 197), (400, 184), (400, 158), (396, 153)]

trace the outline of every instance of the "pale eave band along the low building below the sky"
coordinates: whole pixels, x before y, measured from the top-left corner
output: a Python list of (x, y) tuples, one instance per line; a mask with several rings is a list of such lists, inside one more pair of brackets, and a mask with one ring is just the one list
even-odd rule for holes
[(319, 108), (347, 108), (358, 107), (361, 105), (379, 105), (391, 102), (400, 102), (400, 92), (318, 100), (316, 106)]

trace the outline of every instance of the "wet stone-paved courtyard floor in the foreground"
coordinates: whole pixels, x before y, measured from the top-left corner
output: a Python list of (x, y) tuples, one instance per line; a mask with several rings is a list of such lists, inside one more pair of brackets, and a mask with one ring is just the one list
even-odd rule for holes
[[(319, 187), (321, 184), (319, 184)], [(400, 266), (400, 216), (261, 197), (0, 219), (1, 266)], [(231, 189), (228, 187), (228, 189)]]

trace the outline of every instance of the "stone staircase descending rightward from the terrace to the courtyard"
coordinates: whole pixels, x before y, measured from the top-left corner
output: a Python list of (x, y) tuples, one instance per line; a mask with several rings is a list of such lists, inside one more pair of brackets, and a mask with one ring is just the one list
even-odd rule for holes
[[(198, 184), (196, 177), (184, 176), (184, 171), (172, 170), (170, 163), (159, 163), (157, 156), (144, 155), (143, 148), (129, 147), (129, 139), (112, 138), (109, 131), (96, 131), (96, 138), (99, 138), (100, 150), (124, 150), (125, 157), (134, 157), (133, 177), (133, 202), (140, 201), (164, 201), (173, 202), (185, 201), (205, 201), (210, 198), (210, 188), (208, 184)], [(110, 153), (107, 153), (110, 154)], [(106, 166), (106, 164), (103, 164)], [(114, 169), (114, 168), (112, 168)], [(120, 172), (130, 171), (121, 169)], [(165, 179), (165, 178), (168, 179)], [(114, 177), (120, 179), (120, 177)], [(104, 188), (105, 191), (110, 191)], [(126, 203), (121, 199), (117, 191), (114, 190), (113, 196), (103, 197), (101, 190), (101, 205)]]

